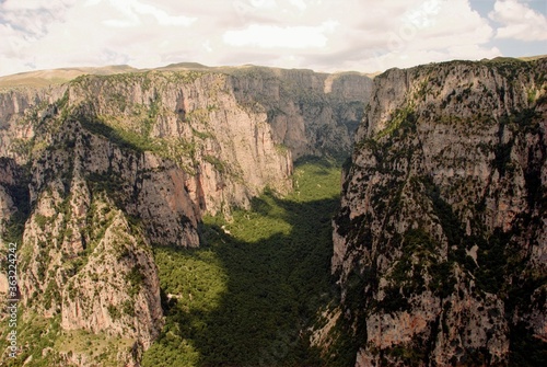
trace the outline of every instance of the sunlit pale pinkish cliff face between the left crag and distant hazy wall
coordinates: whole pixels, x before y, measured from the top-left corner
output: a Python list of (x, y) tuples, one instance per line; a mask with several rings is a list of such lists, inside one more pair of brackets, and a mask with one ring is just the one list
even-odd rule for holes
[(74, 82), (68, 95), (91, 124), (105, 124), (120, 140), (183, 168), (202, 211), (246, 206), (265, 186), (290, 188), (290, 152), (276, 146), (265, 113), (235, 101), (226, 76), (90, 77)]

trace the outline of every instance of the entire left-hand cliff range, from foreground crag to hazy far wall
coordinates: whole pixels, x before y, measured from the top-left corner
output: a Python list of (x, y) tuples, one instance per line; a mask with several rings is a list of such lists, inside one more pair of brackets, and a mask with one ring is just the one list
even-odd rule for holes
[(370, 84), (245, 67), (1, 92), (0, 223), (20, 243), (25, 320), (128, 339), (109, 353), (138, 364), (163, 325), (153, 246), (197, 246), (203, 214), (288, 193), (303, 154), (349, 151)]

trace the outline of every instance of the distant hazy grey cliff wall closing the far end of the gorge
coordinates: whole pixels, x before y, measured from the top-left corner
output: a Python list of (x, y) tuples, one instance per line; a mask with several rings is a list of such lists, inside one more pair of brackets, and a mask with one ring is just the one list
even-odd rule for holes
[(267, 113), (274, 139), (294, 159), (347, 157), (351, 151), (370, 98), (370, 78), (257, 67), (230, 73), (237, 100)]

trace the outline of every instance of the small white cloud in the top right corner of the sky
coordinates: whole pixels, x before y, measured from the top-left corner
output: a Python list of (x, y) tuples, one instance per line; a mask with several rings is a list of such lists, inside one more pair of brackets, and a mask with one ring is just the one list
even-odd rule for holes
[(502, 24), (497, 38), (546, 41), (547, 18), (519, 0), (498, 0), (488, 16)]

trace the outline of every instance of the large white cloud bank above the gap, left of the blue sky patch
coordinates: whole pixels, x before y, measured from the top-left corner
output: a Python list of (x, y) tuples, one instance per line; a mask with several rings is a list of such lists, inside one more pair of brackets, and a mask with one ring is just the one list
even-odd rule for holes
[(391, 18), (382, 18), (383, 23), (368, 23), (364, 30), (351, 27), (351, 33), (331, 39), (340, 45), (341, 62), (336, 69), (374, 71), (500, 55), (498, 48), (486, 46), (493, 30), (467, 0), (415, 1), (407, 7), (393, 4), (387, 10)]

